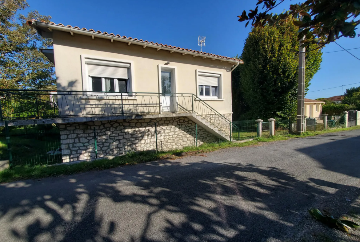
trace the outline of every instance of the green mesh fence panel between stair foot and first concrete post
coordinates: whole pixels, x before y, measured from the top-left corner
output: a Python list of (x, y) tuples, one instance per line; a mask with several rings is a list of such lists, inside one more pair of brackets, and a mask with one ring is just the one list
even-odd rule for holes
[(233, 140), (257, 137), (257, 122), (255, 120), (235, 121), (233, 124)]

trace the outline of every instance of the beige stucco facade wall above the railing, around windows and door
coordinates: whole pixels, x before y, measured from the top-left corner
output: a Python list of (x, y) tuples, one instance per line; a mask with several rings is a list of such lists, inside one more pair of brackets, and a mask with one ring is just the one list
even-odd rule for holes
[(133, 92), (159, 92), (158, 65), (176, 67), (176, 93), (196, 94), (195, 72), (207, 70), (221, 72), (222, 97), (224, 101), (207, 101), (220, 113), (231, 113), (231, 63), (210, 58), (202, 59), (189, 54), (170, 53), (166, 50), (157, 51), (154, 48), (143, 48), (139, 45), (122, 43), (77, 35), (71, 36), (67, 32), (53, 32), (55, 71), (58, 90), (83, 90), (81, 55), (99, 58), (114, 58), (133, 61), (134, 88)]

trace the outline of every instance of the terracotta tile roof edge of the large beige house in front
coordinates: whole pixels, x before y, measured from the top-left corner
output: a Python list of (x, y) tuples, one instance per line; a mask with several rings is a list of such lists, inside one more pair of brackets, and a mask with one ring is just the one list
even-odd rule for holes
[[(31, 26), (32, 25), (32, 21), (37, 21), (36, 19), (31, 19), (31, 20), (28, 20), (26, 21), (26, 24)], [(220, 57), (220, 58), (225, 58), (225, 59), (228, 59), (228, 60), (234, 60), (234, 61), (241, 61), (240, 59), (236, 59), (236, 58), (231, 58), (231, 57), (227, 57), (227, 56), (219, 56), (219, 55), (216, 55), (216, 54), (212, 54), (212, 53), (207, 53), (207, 52), (200, 52), (198, 50), (192, 50), (192, 49), (185, 49), (185, 48), (181, 48), (181, 47), (176, 47), (176, 46), (172, 46), (172, 45), (166, 45), (166, 44), (162, 44), (162, 43), (154, 43), (152, 41), (148, 41), (148, 40), (142, 40), (142, 39), (137, 39), (137, 38), (131, 38), (131, 37), (126, 37), (125, 35), (121, 36), (121, 35), (115, 35), (113, 33), (108, 33), (108, 32), (101, 32), (100, 30), (93, 30), (92, 28), (90, 28), (89, 30), (87, 30), (87, 28), (80, 28), (80, 27), (72, 27), (71, 25), (63, 25), (62, 23), (54, 23), (54, 22), (45, 22), (45, 21), (37, 21), (37, 22), (42, 22), (42, 23), (47, 23), (47, 24), (52, 24), (52, 25), (58, 25), (58, 26), (66, 26), (66, 27), (70, 27), (70, 28), (77, 28), (79, 30), (86, 30), (86, 31), (92, 31), (92, 32), (96, 32), (96, 33), (100, 33), (100, 34), (105, 34), (105, 35), (111, 35), (111, 36), (117, 36), (117, 37), (120, 37), (120, 38), (125, 38), (125, 39), (130, 39), (130, 40), (138, 40), (138, 41), (141, 41), (141, 42), (144, 42), (144, 43), (150, 43), (150, 44), (155, 44), (155, 45), (159, 45), (159, 46), (164, 46), (164, 47), (169, 47), (169, 48), (174, 48), (174, 49), (179, 49), (179, 50), (186, 50), (186, 51), (190, 51), (190, 52), (194, 52), (194, 53), (200, 53), (200, 54), (207, 54), (209, 56), (214, 56), (214, 57)]]

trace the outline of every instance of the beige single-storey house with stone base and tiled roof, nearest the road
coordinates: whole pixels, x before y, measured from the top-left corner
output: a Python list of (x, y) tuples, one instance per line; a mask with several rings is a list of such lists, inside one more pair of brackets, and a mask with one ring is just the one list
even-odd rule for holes
[[(57, 76), (64, 161), (231, 140), (231, 71), (241, 60), (61, 23), (27, 24), (53, 40), (42, 50)], [(45, 121), (44, 121), (45, 122)], [(192, 128), (186, 128), (192, 127)], [(210, 135), (212, 136), (210, 136)], [(203, 137), (203, 139), (202, 139)]]

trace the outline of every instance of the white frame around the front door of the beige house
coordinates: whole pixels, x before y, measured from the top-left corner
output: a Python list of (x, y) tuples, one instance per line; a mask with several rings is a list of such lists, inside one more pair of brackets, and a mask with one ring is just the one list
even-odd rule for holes
[[(171, 93), (176, 93), (177, 91), (177, 68), (176, 66), (169, 66), (169, 65), (158, 65), (158, 90), (159, 93), (162, 92), (161, 90), (161, 71), (170, 71), (171, 72)], [(161, 102), (161, 97), (159, 94), (159, 101)], [(176, 112), (176, 96), (170, 96), (170, 111)], [(160, 113), (162, 112), (161, 106), (159, 107)]]

